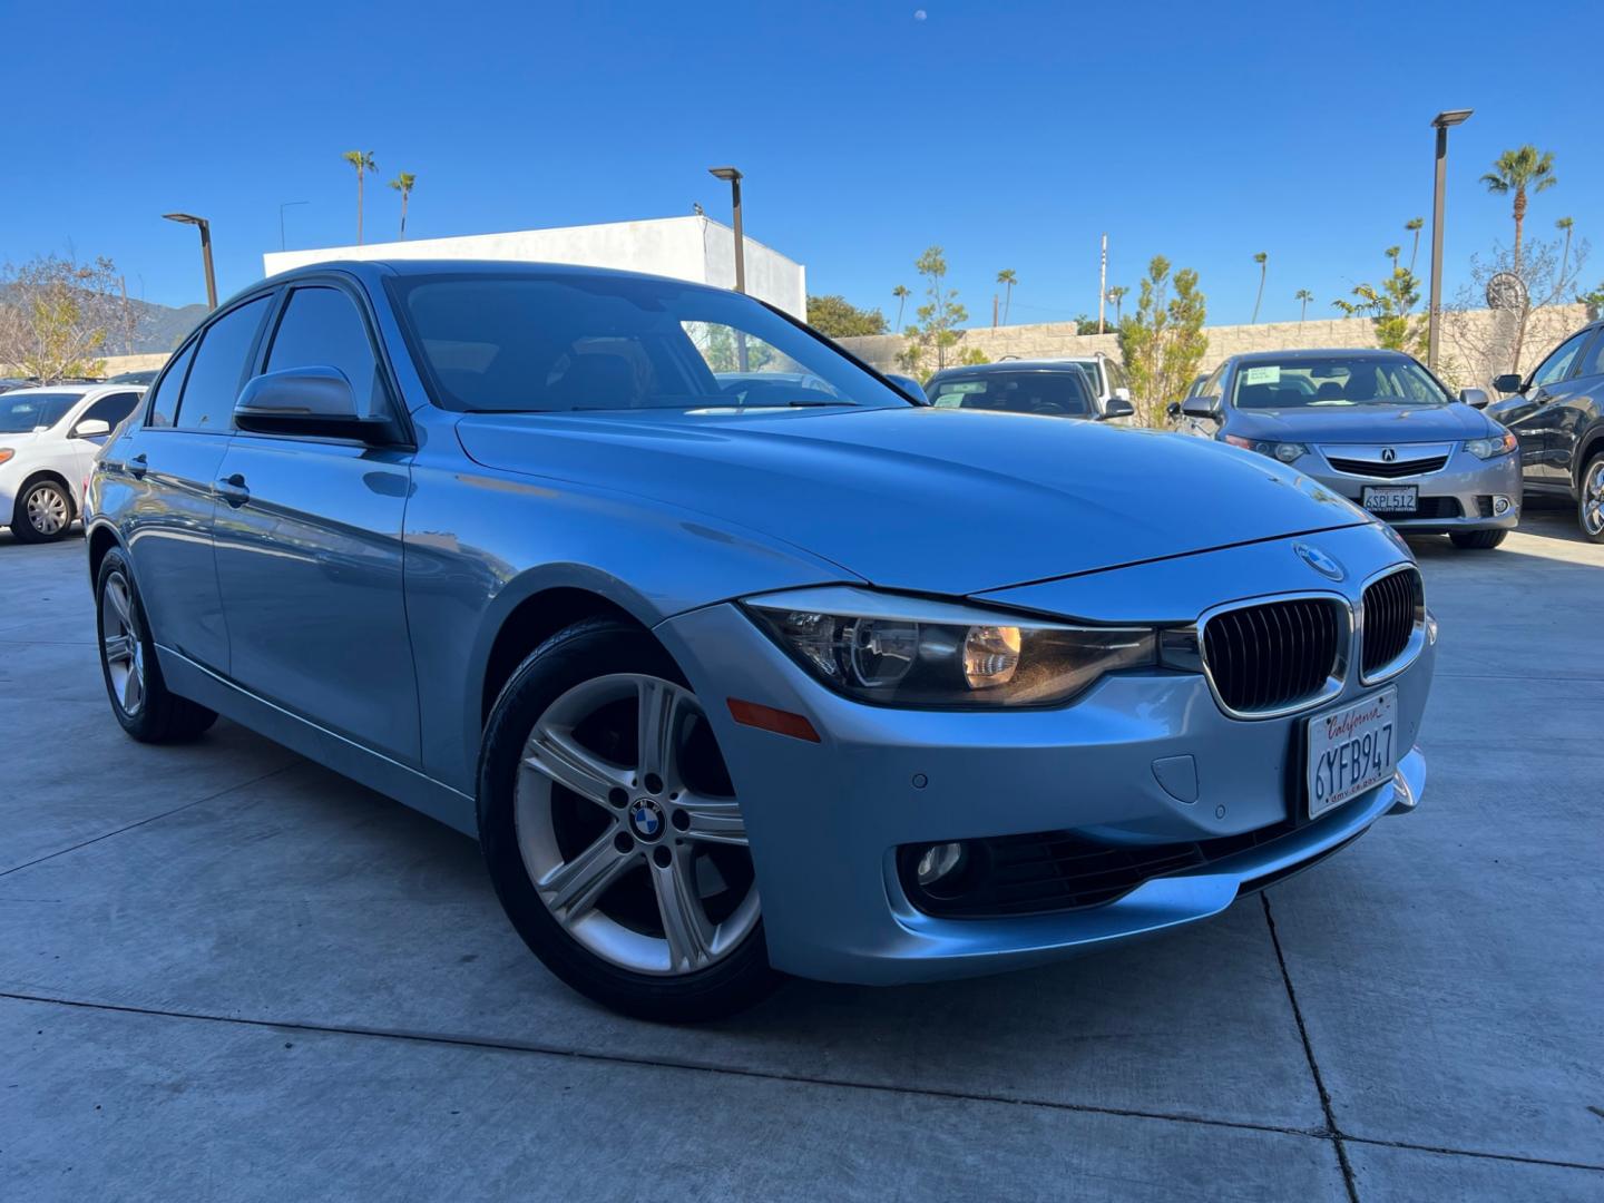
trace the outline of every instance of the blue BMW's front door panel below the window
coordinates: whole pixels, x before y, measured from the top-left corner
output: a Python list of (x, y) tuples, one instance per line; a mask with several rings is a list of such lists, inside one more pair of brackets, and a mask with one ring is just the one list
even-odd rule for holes
[(419, 762), (401, 592), (411, 452), (237, 435), (217, 472), (229, 675), (403, 764)]

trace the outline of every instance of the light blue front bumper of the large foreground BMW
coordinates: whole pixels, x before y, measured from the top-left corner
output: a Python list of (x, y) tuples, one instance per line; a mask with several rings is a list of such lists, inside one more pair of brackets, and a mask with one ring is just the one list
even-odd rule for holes
[[(1296, 557), (1275, 547), (1291, 579)], [(1176, 573), (1193, 571), (1176, 565)], [(1351, 566), (1360, 569), (1351, 582), (1357, 592), (1370, 568)], [(770, 959), (802, 977), (890, 985), (988, 974), (1203, 919), (1318, 860), (1381, 815), (1413, 808), (1424, 788), (1424, 760), (1412, 751), (1392, 783), (1336, 812), (1197, 871), (1150, 879), (1102, 906), (934, 917), (901, 889), (900, 845), (1062, 829), (1156, 844), (1283, 823), (1302, 807), (1304, 723), (1373, 688), (1355, 674), (1322, 706), (1253, 722), (1227, 719), (1201, 675), (1177, 672), (1108, 677), (1054, 711), (898, 711), (831, 693), (733, 605), (682, 614), (658, 634), (704, 699), (741, 797)], [(1399, 691), (1400, 747), (1415, 744), (1434, 654), (1428, 645), (1387, 682)], [(804, 714), (821, 741), (738, 725), (728, 698)], [(1195, 759), (1193, 802), (1160, 783), (1153, 762), (1166, 757)]]

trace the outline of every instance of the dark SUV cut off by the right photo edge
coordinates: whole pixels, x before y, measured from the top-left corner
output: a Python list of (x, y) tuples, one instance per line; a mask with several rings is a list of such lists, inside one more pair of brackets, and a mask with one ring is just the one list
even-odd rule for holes
[(1521, 439), (1521, 473), (1532, 492), (1577, 504), (1582, 534), (1604, 542), (1604, 321), (1582, 327), (1524, 380), (1500, 375), (1487, 412)]

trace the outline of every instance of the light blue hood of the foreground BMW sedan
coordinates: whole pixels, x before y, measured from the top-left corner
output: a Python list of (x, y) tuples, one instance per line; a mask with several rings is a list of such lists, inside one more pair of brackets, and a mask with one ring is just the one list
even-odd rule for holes
[(1219, 443), (964, 409), (467, 414), (476, 462), (762, 531), (885, 589), (974, 593), (1368, 521)]

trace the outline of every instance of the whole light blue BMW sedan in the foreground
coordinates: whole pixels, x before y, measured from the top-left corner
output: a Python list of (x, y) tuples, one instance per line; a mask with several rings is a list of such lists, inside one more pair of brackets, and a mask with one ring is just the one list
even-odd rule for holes
[(1386, 526), (1229, 446), (917, 404), (703, 286), (277, 276), (87, 512), (128, 735), (223, 714), (475, 836), (635, 1015), (1203, 919), (1424, 784), (1436, 622)]

